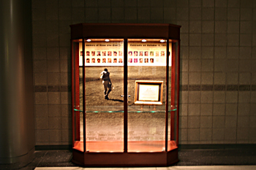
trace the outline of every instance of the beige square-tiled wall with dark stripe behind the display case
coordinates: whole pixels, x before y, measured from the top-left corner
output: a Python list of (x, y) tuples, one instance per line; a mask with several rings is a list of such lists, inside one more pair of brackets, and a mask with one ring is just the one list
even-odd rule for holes
[(72, 23), (181, 25), (181, 144), (256, 143), (256, 1), (32, 0), (37, 145), (71, 143)]

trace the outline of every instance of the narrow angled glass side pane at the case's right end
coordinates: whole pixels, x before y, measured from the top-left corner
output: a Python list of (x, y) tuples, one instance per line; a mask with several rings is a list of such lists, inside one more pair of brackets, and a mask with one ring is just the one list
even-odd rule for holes
[(177, 43), (170, 40), (169, 43), (169, 112), (168, 112), (168, 148), (167, 150), (176, 149), (176, 120), (177, 120)]

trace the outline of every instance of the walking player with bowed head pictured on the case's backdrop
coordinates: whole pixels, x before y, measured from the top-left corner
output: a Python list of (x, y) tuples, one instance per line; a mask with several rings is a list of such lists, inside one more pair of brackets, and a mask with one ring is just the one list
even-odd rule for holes
[(112, 83), (111, 83), (111, 80), (110, 80), (110, 72), (108, 72), (108, 69), (104, 69), (104, 71), (101, 72), (100, 74), (102, 74), (100, 79), (102, 80), (105, 99), (108, 100), (109, 99), (108, 94), (112, 90), (112, 88), (111, 88)]

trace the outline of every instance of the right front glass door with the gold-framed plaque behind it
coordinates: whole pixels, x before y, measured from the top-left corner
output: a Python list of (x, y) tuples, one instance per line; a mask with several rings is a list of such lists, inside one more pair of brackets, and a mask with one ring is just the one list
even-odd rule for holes
[(128, 39), (128, 152), (165, 151), (165, 81), (166, 40)]

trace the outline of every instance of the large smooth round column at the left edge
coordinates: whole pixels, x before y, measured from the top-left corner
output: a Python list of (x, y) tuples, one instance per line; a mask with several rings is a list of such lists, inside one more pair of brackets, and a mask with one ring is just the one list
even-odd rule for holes
[(0, 11), (0, 164), (26, 164), (36, 143), (31, 1), (1, 0)]

